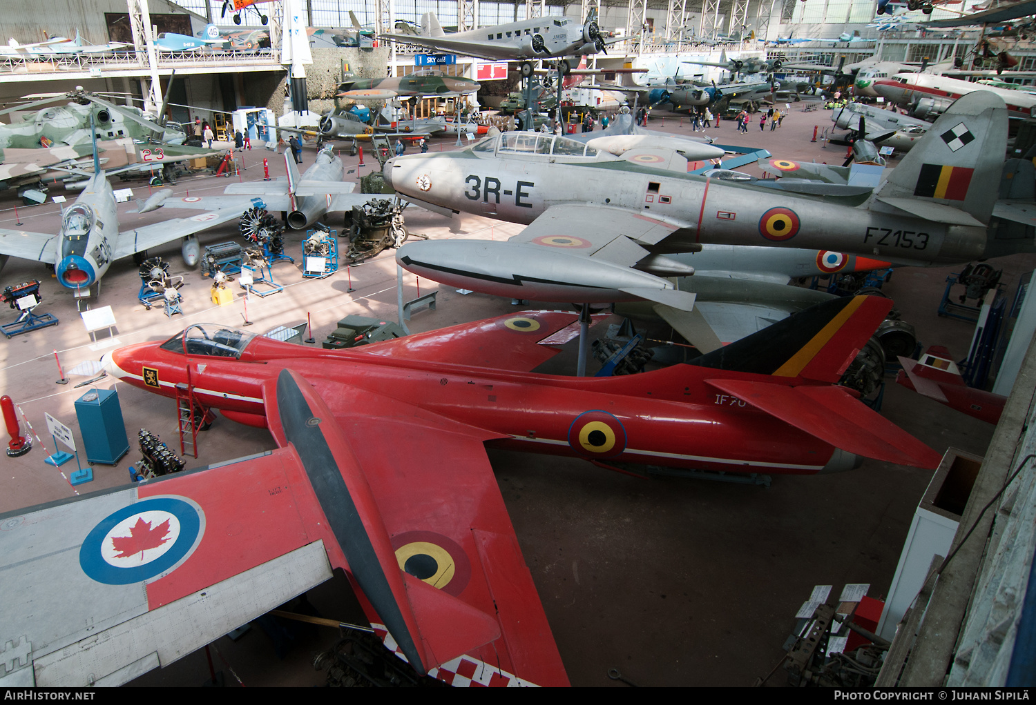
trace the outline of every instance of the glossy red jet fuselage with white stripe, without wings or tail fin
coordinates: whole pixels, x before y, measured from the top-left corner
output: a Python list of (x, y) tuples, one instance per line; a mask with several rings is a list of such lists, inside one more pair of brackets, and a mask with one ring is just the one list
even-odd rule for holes
[(777, 381), (769, 375), (680, 364), (629, 377), (573, 378), (400, 359), (362, 349), (301, 348), (265, 337), (253, 339), (238, 359), (185, 355), (160, 345), (112, 352), (109, 373), (170, 398), (176, 384), (190, 383), (200, 404), (255, 425), (264, 424), (263, 385), (288, 368), (303, 375), (336, 414), (354, 412), (354, 404), (378, 415), (383, 413), (378, 404), (405, 405), (416, 416), (489, 432), (497, 439), (490, 441), (493, 446), (605, 465), (813, 474), (851, 469), (857, 460), (706, 382)]

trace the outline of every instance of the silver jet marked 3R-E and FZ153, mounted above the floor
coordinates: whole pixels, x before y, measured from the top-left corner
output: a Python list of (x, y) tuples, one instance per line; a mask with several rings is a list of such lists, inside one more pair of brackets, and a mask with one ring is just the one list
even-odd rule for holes
[(987, 227), (1003, 171), (1005, 113), (989, 93), (961, 98), (880, 188), (842, 198), (691, 175), (669, 150), (614, 156), (527, 133), (433, 158), (397, 156), (384, 178), (404, 199), (528, 224), (508, 242), (411, 243), (397, 257), (422, 276), (513, 298), (648, 299), (690, 311), (693, 301), (664, 278), (689, 272), (665, 255), (703, 242), (833, 249), (903, 264), (1034, 252), (1028, 213), (998, 213), (1021, 232)]

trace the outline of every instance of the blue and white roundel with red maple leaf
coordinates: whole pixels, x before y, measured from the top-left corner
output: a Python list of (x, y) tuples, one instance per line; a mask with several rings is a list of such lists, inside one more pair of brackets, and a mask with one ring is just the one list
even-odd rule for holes
[(163, 576), (194, 553), (205, 515), (185, 497), (151, 497), (103, 519), (79, 550), (83, 572), (106, 585)]

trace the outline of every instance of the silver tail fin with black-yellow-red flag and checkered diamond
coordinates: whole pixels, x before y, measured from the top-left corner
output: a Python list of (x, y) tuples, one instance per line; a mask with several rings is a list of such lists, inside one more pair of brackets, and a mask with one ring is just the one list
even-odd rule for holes
[(939, 116), (874, 198), (936, 203), (988, 224), (1006, 150), (1007, 107), (1003, 98), (988, 91), (973, 91)]

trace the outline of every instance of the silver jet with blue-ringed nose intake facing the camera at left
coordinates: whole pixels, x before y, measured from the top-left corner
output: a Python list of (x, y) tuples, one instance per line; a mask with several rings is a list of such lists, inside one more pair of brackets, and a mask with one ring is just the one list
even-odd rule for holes
[[(100, 280), (115, 260), (146, 253), (149, 247), (182, 238), (180, 252), (183, 261), (194, 266), (198, 262), (198, 238), (195, 233), (236, 217), (232, 212), (206, 212), (120, 232), (115, 194), (100, 169), (96, 151), (93, 165), (93, 176), (83, 193), (74, 205), (62, 211), (61, 229), (56, 235), (0, 229), (0, 268), (9, 257), (36, 260), (54, 265), (58, 284), (75, 291), (78, 297), (89, 295), (94, 284), (99, 294)], [(161, 199), (171, 193), (165, 189), (151, 199)], [(148, 207), (141, 212), (150, 209)]]

